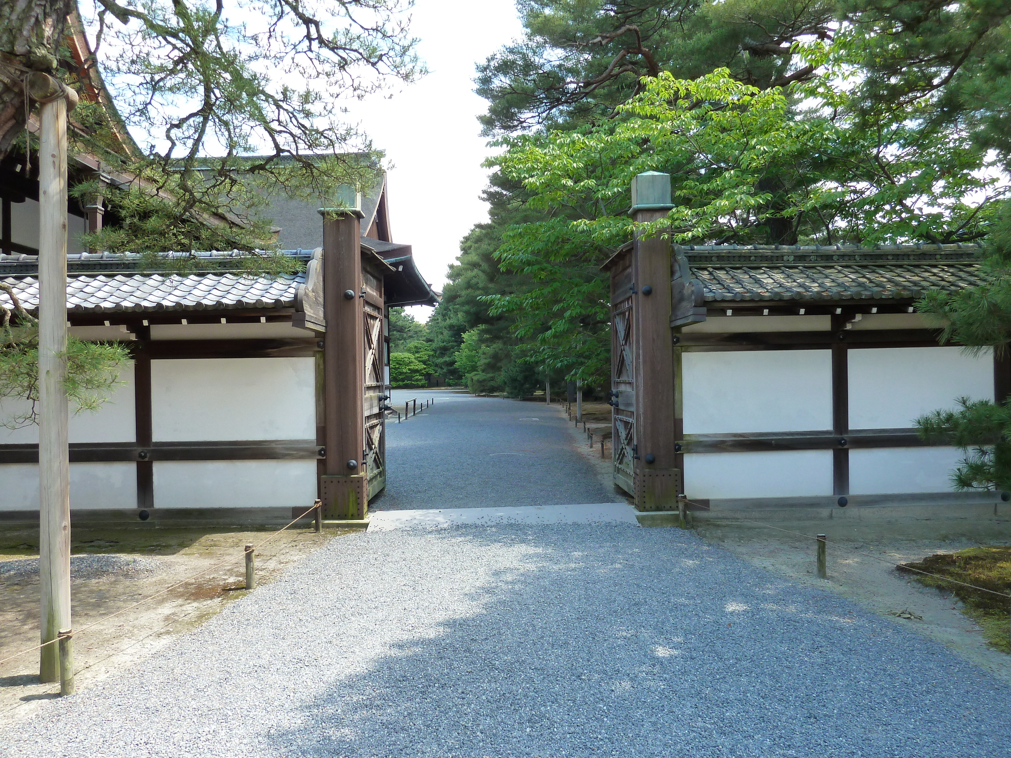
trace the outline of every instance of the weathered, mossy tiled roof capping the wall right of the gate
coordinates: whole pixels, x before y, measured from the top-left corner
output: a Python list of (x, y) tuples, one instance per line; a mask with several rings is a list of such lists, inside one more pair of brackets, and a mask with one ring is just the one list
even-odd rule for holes
[(912, 299), (984, 282), (977, 245), (678, 248), (707, 301)]

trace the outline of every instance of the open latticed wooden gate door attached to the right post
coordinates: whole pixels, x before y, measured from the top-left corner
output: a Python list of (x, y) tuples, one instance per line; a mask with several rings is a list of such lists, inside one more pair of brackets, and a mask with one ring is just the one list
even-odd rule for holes
[(615, 484), (635, 492), (635, 319), (632, 255), (626, 251), (611, 273), (611, 460)]

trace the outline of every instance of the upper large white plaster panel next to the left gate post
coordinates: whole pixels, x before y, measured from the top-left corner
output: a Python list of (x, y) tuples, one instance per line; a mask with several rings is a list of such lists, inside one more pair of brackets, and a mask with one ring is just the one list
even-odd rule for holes
[(311, 358), (152, 361), (155, 442), (315, 439), (314, 384)]

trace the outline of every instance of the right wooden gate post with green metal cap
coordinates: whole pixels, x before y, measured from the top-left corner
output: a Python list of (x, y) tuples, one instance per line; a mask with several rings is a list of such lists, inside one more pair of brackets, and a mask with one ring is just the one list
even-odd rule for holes
[[(670, 175), (649, 171), (632, 179), (632, 217), (667, 215)], [(638, 510), (676, 510), (680, 471), (674, 462), (674, 355), (670, 331), (670, 241), (636, 235), (632, 249), (635, 455)]]

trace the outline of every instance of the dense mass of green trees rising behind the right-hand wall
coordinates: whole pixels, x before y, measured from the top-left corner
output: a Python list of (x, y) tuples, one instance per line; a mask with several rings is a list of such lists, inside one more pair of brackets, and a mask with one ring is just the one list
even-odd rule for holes
[[(994, 228), (1011, 133), (1006, 2), (522, 8), (525, 37), (477, 77), (486, 133), (507, 148), (491, 162), (490, 221), (461, 245), (432, 319), (435, 362), (477, 353), (481, 386), (501, 390), (514, 363), (607, 382), (599, 269), (631, 239), (640, 171), (675, 180), (670, 217), (643, 231), (686, 244), (968, 242)], [(471, 334), (480, 351), (463, 347)]]

